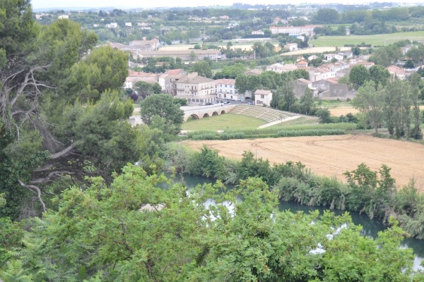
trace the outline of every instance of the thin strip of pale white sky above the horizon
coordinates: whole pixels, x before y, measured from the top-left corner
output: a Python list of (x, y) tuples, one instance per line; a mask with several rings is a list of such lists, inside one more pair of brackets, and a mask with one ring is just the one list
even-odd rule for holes
[[(396, 0), (351, 0), (348, 4), (364, 3), (364, 2), (393, 2)], [(413, 3), (421, 0), (408, 0)], [(245, 4), (290, 4), (290, 0), (32, 0), (33, 8), (71, 8), (71, 7), (114, 7), (114, 8), (153, 8), (153, 7), (195, 7), (195, 6), (230, 6), (232, 3)], [(299, 3), (343, 3), (341, 0), (301, 0)], [(397, 2), (401, 2), (398, 0)]]

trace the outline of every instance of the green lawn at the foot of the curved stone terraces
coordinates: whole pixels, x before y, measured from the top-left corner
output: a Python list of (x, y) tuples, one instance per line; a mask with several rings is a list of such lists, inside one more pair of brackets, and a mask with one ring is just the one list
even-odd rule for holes
[(257, 128), (266, 121), (251, 116), (222, 114), (208, 118), (192, 119), (182, 124), (182, 130), (228, 130)]

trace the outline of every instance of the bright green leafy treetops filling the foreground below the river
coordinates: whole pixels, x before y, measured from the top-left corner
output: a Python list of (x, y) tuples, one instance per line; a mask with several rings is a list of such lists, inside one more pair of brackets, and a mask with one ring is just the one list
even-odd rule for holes
[[(29, 223), (16, 269), (34, 281), (413, 277), (413, 255), (400, 247), (404, 231), (396, 221), (374, 240), (360, 234), (348, 213), (279, 212), (278, 195), (258, 178), (222, 194), (220, 182), (188, 192), (133, 165), (115, 174), (111, 185), (90, 181), (85, 190), (65, 190), (57, 212)], [(159, 188), (162, 183), (169, 188)], [(16, 277), (11, 272), (0, 275)]]

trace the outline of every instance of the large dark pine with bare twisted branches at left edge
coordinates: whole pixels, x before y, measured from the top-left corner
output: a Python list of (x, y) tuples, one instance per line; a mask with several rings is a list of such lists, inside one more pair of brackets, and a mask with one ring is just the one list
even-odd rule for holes
[[(6, 56), (0, 71), (0, 192), (7, 200), (1, 215), (13, 219), (45, 212), (45, 192), (54, 181), (66, 187), (85, 182), (87, 175), (110, 179), (111, 171), (140, 155), (137, 135), (128, 124), (132, 104), (119, 101), (113, 91), (122, 89), (127, 56), (110, 48), (95, 50), (97, 36), (71, 20), (40, 27), (31, 13), (29, 1), (0, 4), (0, 49)], [(110, 73), (112, 68), (117, 74)], [(98, 71), (87, 78), (88, 70)], [(76, 77), (81, 85), (66, 87)], [(106, 89), (110, 91), (102, 100)], [(123, 144), (124, 138), (130, 142)], [(38, 203), (28, 201), (33, 196)], [(24, 214), (19, 214), (19, 206)]]

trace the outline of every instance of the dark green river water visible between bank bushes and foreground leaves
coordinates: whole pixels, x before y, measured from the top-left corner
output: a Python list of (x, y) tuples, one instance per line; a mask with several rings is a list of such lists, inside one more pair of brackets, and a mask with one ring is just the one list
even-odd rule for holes
[[(169, 176), (169, 175), (168, 175)], [(176, 177), (176, 181), (181, 179), (180, 176)], [(199, 177), (199, 176), (190, 176), (188, 174), (184, 174), (184, 183), (187, 185), (187, 188), (194, 188), (198, 184), (204, 183), (214, 183), (215, 179)], [(232, 188), (232, 185), (227, 185), (228, 188)], [(320, 207), (320, 206), (305, 206), (298, 204), (296, 202), (280, 202), (278, 204), (278, 209), (280, 210), (290, 210), (290, 212), (299, 212), (302, 211), (304, 213), (309, 213), (314, 210), (319, 210), (320, 213), (323, 213), (324, 210), (327, 210), (328, 207)], [(347, 212), (346, 210), (333, 209), (331, 212), (334, 212), (336, 215), (344, 214)], [(349, 212), (352, 217), (353, 223), (355, 225), (363, 226), (362, 235), (367, 235), (372, 238), (377, 238), (377, 233), (379, 231), (384, 231), (387, 228), (386, 225), (382, 223), (379, 219), (370, 219), (366, 214), (359, 214), (358, 212)], [(405, 238), (403, 243), (403, 247), (411, 247), (413, 253), (416, 255), (414, 259), (414, 269), (421, 269), (424, 271), (424, 267), (420, 266), (420, 263), (424, 259), (424, 240), (418, 240), (415, 238)]]

